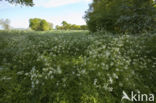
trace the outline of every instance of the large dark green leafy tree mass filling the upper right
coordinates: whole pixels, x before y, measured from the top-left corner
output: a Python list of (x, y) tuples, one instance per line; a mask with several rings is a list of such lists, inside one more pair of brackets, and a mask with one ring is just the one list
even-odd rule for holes
[(85, 19), (92, 32), (141, 33), (153, 31), (155, 14), (153, 0), (94, 0)]

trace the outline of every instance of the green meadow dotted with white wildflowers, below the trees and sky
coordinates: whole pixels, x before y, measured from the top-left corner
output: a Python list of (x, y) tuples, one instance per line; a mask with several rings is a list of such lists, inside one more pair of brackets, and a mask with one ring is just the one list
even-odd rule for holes
[(120, 103), (155, 81), (156, 34), (0, 31), (0, 103)]

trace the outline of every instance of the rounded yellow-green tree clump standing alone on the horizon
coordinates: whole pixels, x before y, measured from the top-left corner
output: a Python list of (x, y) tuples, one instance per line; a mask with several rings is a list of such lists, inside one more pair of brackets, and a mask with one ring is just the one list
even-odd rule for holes
[(35, 31), (48, 31), (52, 29), (52, 24), (44, 19), (34, 18), (29, 20), (29, 27)]

